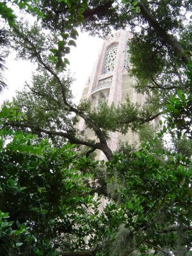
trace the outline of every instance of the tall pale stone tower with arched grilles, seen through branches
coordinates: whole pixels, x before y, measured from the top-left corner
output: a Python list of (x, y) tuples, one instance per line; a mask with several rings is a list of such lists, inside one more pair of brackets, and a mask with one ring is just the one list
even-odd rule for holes
[[(81, 100), (91, 99), (92, 107), (97, 106), (100, 99), (105, 99), (108, 104), (117, 106), (120, 102), (125, 102), (128, 96), (131, 102), (143, 104), (144, 96), (136, 93), (132, 88), (132, 79), (129, 77), (129, 58), (127, 54), (127, 41), (131, 35), (124, 30), (116, 31), (108, 36), (104, 41), (98, 60), (93, 68), (92, 76), (84, 86)], [(80, 120), (79, 129), (86, 127), (84, 121)], [(86, 129), (88, 138), (95, 138), (93, 131)], [(118, 141), (129, 140), (132, 143), (137, 140), (136, 134), (129, 131), (125, 136), (118, 132), (110, 133), (111, 140), (108, 145), (111, 150), (116, 150)], [(104, 154), (100, 153), (99, 159), (104, 159)]]

